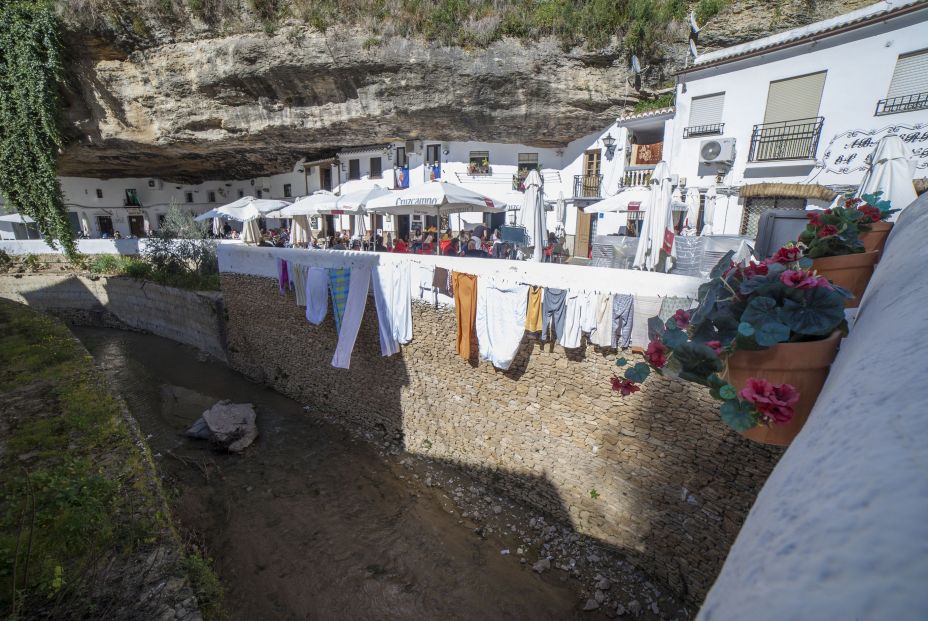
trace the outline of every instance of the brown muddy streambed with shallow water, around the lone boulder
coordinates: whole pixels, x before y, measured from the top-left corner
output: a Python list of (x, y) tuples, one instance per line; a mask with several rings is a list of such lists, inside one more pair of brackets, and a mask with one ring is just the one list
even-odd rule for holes
[[(175, 517), (206, 544), (232, 619), (600, 619), (629, 602), (643, 619), (687, 616), (630, 567), (623, 584), (597, 576), (612, 584), (583, 611), (595, 601), (590, 576), (556, 558), (532, 570), (543, 546), (578, 539), (538, 517), (529, 526), (537, 513), (446, 466), (358, 440), (186, 346), (74, 332), (148, 436), (176, 490)], [(242, 456), (182, 435), (220, 399), (258, 411), (261, 435)]]

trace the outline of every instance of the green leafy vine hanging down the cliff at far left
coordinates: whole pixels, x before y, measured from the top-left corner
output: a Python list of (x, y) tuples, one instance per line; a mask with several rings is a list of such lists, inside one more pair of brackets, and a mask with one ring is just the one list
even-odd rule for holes
[(0, 194), (75, 254), (61, 185), (62, 44), (50, 2), (0, 2)]

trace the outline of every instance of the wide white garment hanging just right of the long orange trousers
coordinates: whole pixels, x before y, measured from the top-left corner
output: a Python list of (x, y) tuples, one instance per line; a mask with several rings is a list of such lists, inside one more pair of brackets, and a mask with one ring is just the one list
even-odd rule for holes
[(477, 343), (480, 357), (508, 369), (525, 334), (528, 285), (492, 278), (477, 281)]

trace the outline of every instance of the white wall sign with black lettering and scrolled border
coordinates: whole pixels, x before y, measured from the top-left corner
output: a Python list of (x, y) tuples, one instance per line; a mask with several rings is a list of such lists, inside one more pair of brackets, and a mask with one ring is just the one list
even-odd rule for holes
[(867, 170), (870, 155), (884, 136), (895, 134), (908, 148), (916, 169), (928, 169), (928, 123), (887, 125), (880, 129), (851, 129), (831, 139), (822, 167), (838, 174)]

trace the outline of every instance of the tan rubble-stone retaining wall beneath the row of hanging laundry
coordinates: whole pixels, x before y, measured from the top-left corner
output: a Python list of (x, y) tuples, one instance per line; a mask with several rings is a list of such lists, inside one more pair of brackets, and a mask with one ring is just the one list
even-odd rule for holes
[(351, 369), (334, 369), (331, 314), (312, 326), (269, 278), (224, 273), (222, 290), (234, 368), (570, 520), (690, 601), (712, 584), (782, 453), (729, 430), (690, 384), (655, 377), (620, 397), (615, 352), (526, 339), (497, 371), (455, 355), (453, 309), (416, 302), (414, 340), (384, 358), (370, 300)]

